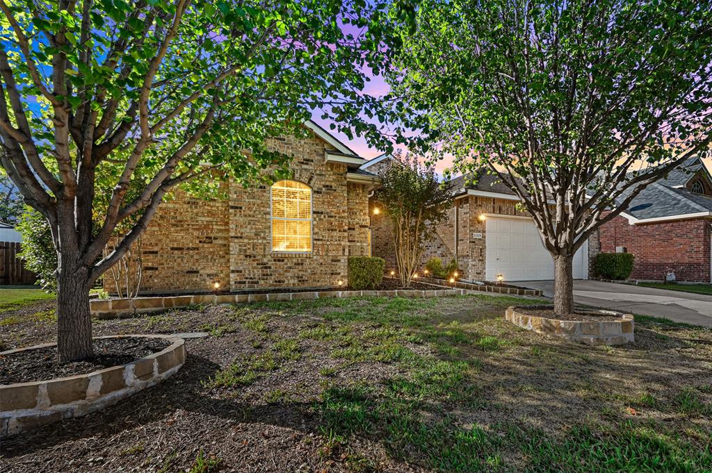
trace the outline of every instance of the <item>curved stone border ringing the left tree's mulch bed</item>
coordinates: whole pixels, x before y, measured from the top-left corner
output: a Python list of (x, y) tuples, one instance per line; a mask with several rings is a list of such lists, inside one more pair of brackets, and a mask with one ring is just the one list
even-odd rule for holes
[[(95, 339), (167, 339), (162, 351), (121, 366), (47, 381), (0, 385), (0, 438), (105, 408), (169, 378), (185, 362), (185, 341), (172, 335), (110, 335)], [(0, 356), (56, 344), (3, 351)]]

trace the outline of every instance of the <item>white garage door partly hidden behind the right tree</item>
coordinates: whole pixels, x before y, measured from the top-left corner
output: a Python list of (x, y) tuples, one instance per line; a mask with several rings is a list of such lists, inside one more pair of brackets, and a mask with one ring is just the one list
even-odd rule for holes
[[(529, 218), (487, 216), (485, 278), (505, 281), (553, 280), (554, 260)], [(587, 277), (588, 243), (574, 256), (574, 279)]]

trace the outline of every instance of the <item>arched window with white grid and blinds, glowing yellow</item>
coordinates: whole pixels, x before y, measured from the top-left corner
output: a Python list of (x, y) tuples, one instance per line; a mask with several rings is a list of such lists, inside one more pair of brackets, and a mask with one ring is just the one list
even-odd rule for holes
[(272, 251), (310, 253), (312, 250), (312, 192), (297, 181), (272, 185)]

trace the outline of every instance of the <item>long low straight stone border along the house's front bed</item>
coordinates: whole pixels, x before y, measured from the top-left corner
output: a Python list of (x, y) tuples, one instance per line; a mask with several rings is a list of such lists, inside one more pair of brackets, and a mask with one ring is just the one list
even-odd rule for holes
[(128, 317), (132, 314), (159, 312), (195, 304), (241, 304), (243, 302), (293, 301), (342, 297), (445, 297), (468, 294), (466, 289), (397, 289), (389, 291), (309, 291), (267, 294), (197, 294), (136, 299), (99, 299), (90, 301), (91, 313), (100, 319)]

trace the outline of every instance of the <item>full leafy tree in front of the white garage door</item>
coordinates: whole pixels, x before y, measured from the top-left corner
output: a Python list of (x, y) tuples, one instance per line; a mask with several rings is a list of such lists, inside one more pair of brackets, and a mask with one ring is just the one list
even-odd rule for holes
[(409, 127), (454, 171), (496, 174), (555, 261), (711, 140), (712, 4), (418, 0), (389, 70)]

